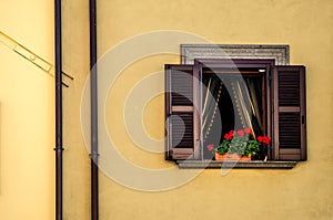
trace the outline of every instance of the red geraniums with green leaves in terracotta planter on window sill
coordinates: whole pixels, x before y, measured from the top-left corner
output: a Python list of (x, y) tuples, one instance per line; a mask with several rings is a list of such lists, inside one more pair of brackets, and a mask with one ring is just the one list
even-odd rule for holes
[(230, 130), (225, 134), (221, 144), (214, 147), (208, 146), (212, 151), (215, 160), (251, 160), (252, 157), (260, 154), (261, 145), (270, 144), (271, 138), (268, 136), (254, 137), (251, 128)]

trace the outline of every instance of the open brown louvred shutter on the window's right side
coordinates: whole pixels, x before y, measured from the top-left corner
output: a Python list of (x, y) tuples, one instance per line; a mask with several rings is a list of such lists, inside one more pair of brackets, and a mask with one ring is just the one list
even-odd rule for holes
[(276, 160), (306, 160), (305, 67), (275, 66), (273, 134)]

